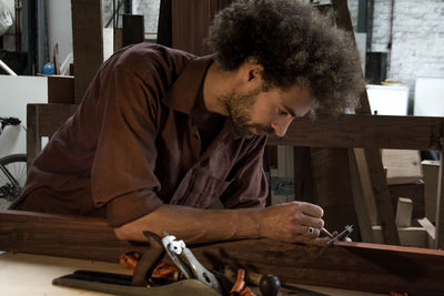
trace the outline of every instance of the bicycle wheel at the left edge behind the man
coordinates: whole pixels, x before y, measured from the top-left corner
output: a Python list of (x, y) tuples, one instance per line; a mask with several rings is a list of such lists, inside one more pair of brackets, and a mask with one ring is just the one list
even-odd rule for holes
[(27, 155), (12, 154), (0, 159), (0, 208), (9, 207), (27, 181)]

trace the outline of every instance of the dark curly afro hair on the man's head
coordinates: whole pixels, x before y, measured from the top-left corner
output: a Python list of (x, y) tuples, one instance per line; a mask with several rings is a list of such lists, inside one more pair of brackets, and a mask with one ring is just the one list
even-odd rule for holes
[(304, 1), (236, 0), (216, 14), (208, 42), (226, 71), (254, 58), (269, 85), (309, 88), (319, 113), (355, 108), (365, 88), (353, 39)]

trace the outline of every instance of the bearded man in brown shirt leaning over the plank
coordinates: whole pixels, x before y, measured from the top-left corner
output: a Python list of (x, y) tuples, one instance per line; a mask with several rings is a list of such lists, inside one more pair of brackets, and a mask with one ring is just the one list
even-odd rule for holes
[[(121, 239), (271, 237), (323, 245), (323, 210), (264, 208), (266, 134), (315, 108), (353, 108), (363, 82), (345, 33), (295, 0), (239, 0), (210, 32), (214, 55), (141, 43), (99, 70), (33, 163), (16, 208), (107, 216)], [(216, 200), (224, 210), (208, 210)]]

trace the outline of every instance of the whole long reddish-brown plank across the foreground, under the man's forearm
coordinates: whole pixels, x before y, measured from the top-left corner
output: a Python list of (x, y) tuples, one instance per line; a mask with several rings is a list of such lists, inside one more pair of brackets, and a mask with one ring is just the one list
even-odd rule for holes
[[(0, 249), (117, 262), (123, 252), (148, 248), (118, 241), (102, 220), (0, 211)], [(444, 293), (443, 251), (365, 243), (337, 243), (322, 255), (320, 251), (265, 238), (192, 247), (211, 269), (243, 266), (287, 283), (365, 292)]]

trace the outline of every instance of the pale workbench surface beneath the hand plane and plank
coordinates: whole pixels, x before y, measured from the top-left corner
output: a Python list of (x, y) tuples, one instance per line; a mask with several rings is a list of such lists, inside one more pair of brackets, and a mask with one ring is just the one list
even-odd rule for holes
[[(0, 251), (0, 287), (4, 296), (63, 296), (63, 295), (108, 295), (82, 289), (53, 286), (53, 278), (71, 274), (77, 269), (132, 274), (119, 264), (87, 259), (61, 258), (30, 254), (11, 254)], [(326, 287), (297, 285), (331, 296), (377, 296), (384, 294), (353, 292)], [(291, 295), (291, 294), (290, 294)], [(296, 295), (296, 294), (294, 294)]]

